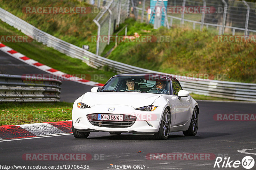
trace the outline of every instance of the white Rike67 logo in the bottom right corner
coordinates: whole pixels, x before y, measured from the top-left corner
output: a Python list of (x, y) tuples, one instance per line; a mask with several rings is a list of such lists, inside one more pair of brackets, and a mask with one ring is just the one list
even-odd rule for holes
[[(223, 162), (222, 162), (223, 161)], [(245, 169), (251, 169), (254, 166), (254, 159), (251, 156), (245, 156), (242, 161), (240, 160), (230, 160), (230, 157), (225, 157), (224, 159), (222, 159), (221, 157), (217, 157), (214, 163), (214, 168), (215, 167), (222, 167), (222, 168), (237, 168), (239, 166), (243, 166)]]

